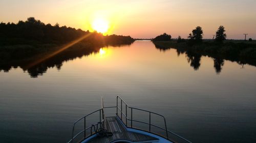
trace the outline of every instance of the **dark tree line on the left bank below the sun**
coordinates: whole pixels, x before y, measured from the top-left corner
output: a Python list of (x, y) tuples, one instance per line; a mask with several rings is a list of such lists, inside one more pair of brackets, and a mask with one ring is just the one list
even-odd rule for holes
[(64, 44), (87, 34), (90, 34), (90, 37), (84, 41), (91, 43), (126, 44), (134, 41), (131, 36), (103, 36), (96, 32), (90, 33), (81, 29), (76, 30), (72, 27), (59, 26), (58, 23), (55, 25), (45, 24), (34, 17), (29, 17), (26, 21), (20, 20), (16, 24), (0, 23), (0, 45)]

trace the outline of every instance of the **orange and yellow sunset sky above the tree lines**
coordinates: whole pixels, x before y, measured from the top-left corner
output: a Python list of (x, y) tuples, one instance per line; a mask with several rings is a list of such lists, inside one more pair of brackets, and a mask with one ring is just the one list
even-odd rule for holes
[(226, 28), (228, 39), (256, 39), (255, 0), (158, 0), (158, 1), (87, 1), (87, 0), (1, 0), (0, 22), (35, 17), (44, 23), (93, 31), (95, 19), (108, 21), (108, 34), (153, 38), (168, 33), (186, 38), (201, 26), (204, 38), (212, 38), (219, 25)]

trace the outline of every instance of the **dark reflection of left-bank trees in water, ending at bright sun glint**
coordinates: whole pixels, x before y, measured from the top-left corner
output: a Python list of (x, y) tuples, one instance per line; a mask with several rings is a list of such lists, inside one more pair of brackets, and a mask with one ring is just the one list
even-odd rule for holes
[(43, 75), (44, 73), (46, 73), (49, 68), (55, 67), (58, 70), (60, 70), (61, 66), (63, 65), (63, 62), (74, 60), (76, 58), (82, 58), (82, 56), (88, 56), (92, 53), (99, 53), (100, 56), (103, 56), (106, 54), (106, 51), (102, 49), (102, 47), (71, 47), (31, 67), (28, 67), (28, 65), (30, 65), (34, 61), (39, 61), (41, 58), (43, 58), (44, 55), (35, 55), (30, 58), (23, 58), (17, 60), (13, 59), (11, 61), (3, 60), (0, 62), (0, 72), (2, 70), (4, 72), (9, 72), (12, 68), (20, 67), (23, 69), (24, 72), (27, 71), (31, 77), (37, 77), (38, 75)]

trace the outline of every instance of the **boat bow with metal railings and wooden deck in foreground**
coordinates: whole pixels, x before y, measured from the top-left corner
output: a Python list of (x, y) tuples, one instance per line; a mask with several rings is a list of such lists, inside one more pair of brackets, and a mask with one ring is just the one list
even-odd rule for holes
[[(112, 113), (106, 113), (111, 110)], [(141, 112), (142, 121), (134, 112)], [(97, 117), (96, 117), (97, 116)], [(154, 118), (153, 118), (154, 116)], [(93, 119), (90, 119), (93, 117)], [(161, 119), (153, 121), (155, 117)], [(88, 122), (94, 122), (90, 124)], [(163, 126), (154, 123), (162, 123)], [(140, 124), (140, 126), (138, 126)], [(142, 126), (143, 125), (143, 126)], [(146, 127), (146, 128), (141, 128)], [(153, 129), (154, 128), (154, 129)], [(156, 131), (157, 130), (157, 131)], [(160, 132), (159, 132), (160, 131)], [(121, 97), (116, 97), (116, 106), (105, 107), (103, 97), (101, 108), (81, 117), (74, 122), (71, 139), (68, 143), (183, 143), (184, 137), (169, 131), (164, 116), (159, 113), (130, 107)]]

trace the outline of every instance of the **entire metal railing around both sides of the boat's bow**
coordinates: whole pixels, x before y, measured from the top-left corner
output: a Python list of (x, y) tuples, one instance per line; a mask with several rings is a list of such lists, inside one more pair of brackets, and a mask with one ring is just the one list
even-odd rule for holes
[[(121, 104), (121, 107), (120, 107), (120, 108), (118, 107), (118, 101), (120, 101), (120, 104)], [(124, 110), (125, 112), (123, 111), (123, 104), (125, 105), (125, 110)], [(162, 137), (164, 137), (164, 138), (166, 138), (166, 139), (168, 139), (168, 140), (170, 140), (170, 141), (172, 141), (172, 142), (176, 142), (176, 141), (174, 141), (173, 138), (170, 138), (170, 137), (169, 137), (170, 134), (172, 134), (172, 135), (176, 136), (177, 138), (181, 139), (182, 142), (185, 141), (185, 142), (191, 143), (189, 140), (183, 138), (182, 136), (180, 136), (180, 135), (178, 135), (178, 134), (176, 134), (176, 133), (174, 133), (174, 132), (172, 132), (172, 131), (167, 130), (166, 120), (165, 120), (164, 116), (162, 116), (162, 115), (160, 115), (159, 113), (156, 113), (156, 112), (152, 112), (152, 111), (148, 111), (148, 110), (144, 110), (144, 109), (139, 109), (139, 108), (130, 107), (130, 106), (129, 106), (127, 103), (125, 103), (124, 100), (123, 100), (121, 97), (119, 97), (119, 96), (116, 97), (116, 106), (110, 106), (110, 107), (104, 107), (104, 105), (103, 105), (103, 98), (101, 98), (101, 108), (100, 108), (100, 109), (98, 109), (98, 110), (96, 110), (96, 111), (94, 111), (94, 112), (91, 112), (91, 113), (89, 113), (88, 115), (86, 115), (86, 116), (84, 116), (84, 117), (78, 119), (76, 122), (74, 122), (73, 128), (72, 128), (72, 136), (71, 136), (71, 139), (69, 140), (68, 143), (73, 143), (74, 139), (76, 139), (76, 138), (78, 137), (78, 135), (80, 135), (80, 134), (82, 134), (82, 133), (83, 133), (83, 138), (82, 138), (82, 139), (86, 139), (86, 138), (90, 137), (91, 135), (95, 134), (95, 133), (96, 133), (96, 131), (95, 131), (95, 126), (96, 126), (97, 129), (98, 129), (98, 126), (100, 126), (100, 128), (101, 128), (101, 127), (104, 128), (104, 116), (105, 116), (105, 115), (104, 115), (104, 108), (116, 108), (116, 115), (117, 115), (117, 117), (123, 122), (123, 124), (124, 124), (127, 128), (139, 129), (139, 128), (136, 128), (136, 127), (133, 126), (133, 122), (142, 123), (142, 124), (148, 125), (148, 130), (143, 130), (143, 129), (140, 129), (140, 130), (157, 134), (157, 133), (155, 133), (155, 132), (152, 132), (152, 129), (151, 129), (152, 127), (156, 127), (156, 128), (161, 129), (161, 130), (163, 130), (163, 131), (165, 132), (165, 135), (160, 135), (160, 134), (157, 134), (157, 135), (160, 135), (160, 136), (162, 136)], [(127, 109), (130, 109), (130, 110), (131, 110), (130, 118), (127, 117)], [(134, 111), (134, 110), (139, 110), (139, 111), (147, 112), (147, 113), (148, 113), (148, 117), (149, 117), (148, 123), (147, 123), (147, 122), (143, 122), (143, 121), (135, 120), (135, 119), (133, 118), (133, 111)], [(119, 114), (118, 114), (118, 111), (120, 111), (120, 116), (119, 116)], [(94, 113), (96, 113), (96, 112), (99, 112), (99, 122), (96, 123), (96, 124), (93, 124), (93, 125), (90, 125), (90, 126), (87, 127), (86, 119), (87, 119), (88, 117), (90, 117), (91, 115), (93, 115)], [(157, 125), (154, 125), (154, 124), (151, 123), (152, 115), (156, 115), (156, 116), (161, 117), (161, 118), (163, 119), (164, 128), (163, 128), (163, 127), (160, 127), (160, 126), (157, 126)], [(123, 121), (123, 117), (125, 118), (125, 123), (124, 123), (124, 121)], [(81, 131), (78, 132), (76, 135), (74, 135), (75, 126), (76, 126), (76, 124), (77, 124), (79, 121), (83, 121), (83, 130), (81, 130)], [(130, 121), (130, 122), (131, 122), (131, 125), (130, 125), (130, 126), (127, 124), (127, 121)], [(93, 128), (94, 128), (94, 132), (92, 131)], [(89, 129), (91, 130), (91, 132), (90, 132), (90, 134), (87, 135), (87, 134), (86, 134), (86, 131), (89, 130)], [(177, 141), (177, 142), (179, 142), (179, 141)]]

